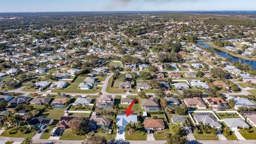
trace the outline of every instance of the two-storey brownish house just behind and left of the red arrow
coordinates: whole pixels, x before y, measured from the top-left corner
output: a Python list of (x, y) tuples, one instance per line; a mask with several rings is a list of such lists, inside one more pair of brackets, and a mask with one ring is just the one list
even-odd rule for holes
[(111, 95), (100, 95), (100, 97), (96, 99), (96, 106), (98, 108), (108, 109), (113, 105), (114, 99)]

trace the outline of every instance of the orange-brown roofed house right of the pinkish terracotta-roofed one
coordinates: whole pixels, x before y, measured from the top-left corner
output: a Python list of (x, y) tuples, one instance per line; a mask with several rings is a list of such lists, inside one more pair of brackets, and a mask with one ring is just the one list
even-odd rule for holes
[(212, 107), (214, 111), (230, 108), (228, 103), (219, 97), (216, 97), (216, 98), (206, 97), (204, 98), (204, 100), (209, 104), (210, 107)]

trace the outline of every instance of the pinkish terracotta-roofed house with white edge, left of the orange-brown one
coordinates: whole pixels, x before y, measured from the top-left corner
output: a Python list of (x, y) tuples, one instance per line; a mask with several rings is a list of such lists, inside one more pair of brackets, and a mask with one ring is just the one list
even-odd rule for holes
[(198, 109), (206, 109), (206, 105), (203, 102), (203, 100), (201, 98), (198, 97), (194, 97), (194, 98), (186, 98), (184, 99), (184, 102), (186, 103), (186, 105), (188, 107), (194, 107), (194, 108), (198, 108)]

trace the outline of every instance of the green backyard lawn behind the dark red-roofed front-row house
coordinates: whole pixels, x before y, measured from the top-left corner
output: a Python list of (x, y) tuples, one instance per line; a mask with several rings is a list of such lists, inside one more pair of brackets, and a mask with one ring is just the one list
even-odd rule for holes
[(64, 115), (64, 109), (52, 108), (46, 109), (40, 117), (53, 118), (55, 120), (60, 120), (60, 117)]

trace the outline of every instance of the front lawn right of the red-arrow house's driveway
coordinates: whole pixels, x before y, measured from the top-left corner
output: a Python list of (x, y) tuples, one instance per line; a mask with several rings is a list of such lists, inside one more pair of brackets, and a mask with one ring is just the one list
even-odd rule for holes
[(147, 140), (147, 136), (148, 135), (143, 128), (132, 132), (132, 134), (128, 134), (127, 131), (125, 132), (125, 140)]

